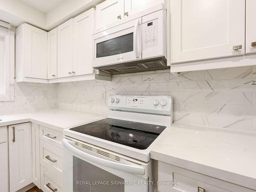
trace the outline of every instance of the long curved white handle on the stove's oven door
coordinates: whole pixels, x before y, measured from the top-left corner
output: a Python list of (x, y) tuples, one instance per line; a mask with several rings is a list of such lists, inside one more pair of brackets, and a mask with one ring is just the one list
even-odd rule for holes
[(84, 159), (87, 159), (89, 161), (92, 161), (94, 163), (97, 163), (99, 165), (103, 165), (109, 168), (122, 170), (123, 172), (131, 173), (131, 174), (138, 174), (138, 175), (144, 175), (145, 170), (143, 167), (139, 166), (133, 166), (133, 165), (126, 165), (122, 163), (116, 163), (113, 161), (101, 159), (99, 157), (95, 157), (93, 155), (87, 154), (86, 152), (78, 150), (78, 148), (71, 145), (69, 142), (67, 142), (65, 139), (63, 139), (63, 145), (65, 145), (70, 151), (74, 152), (76, 155), (81, 156)]

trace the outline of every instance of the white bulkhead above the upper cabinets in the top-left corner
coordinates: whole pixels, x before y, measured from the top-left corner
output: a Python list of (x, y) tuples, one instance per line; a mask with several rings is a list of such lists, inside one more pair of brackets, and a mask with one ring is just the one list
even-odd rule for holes
[(48, 13), (40, 12), (17, 0), (0, 0), (0, 20), (17, 27), (28, 23), (44, 30), (51, 30), (70, 18), (95, 7), (103, 0), (65, 0)]

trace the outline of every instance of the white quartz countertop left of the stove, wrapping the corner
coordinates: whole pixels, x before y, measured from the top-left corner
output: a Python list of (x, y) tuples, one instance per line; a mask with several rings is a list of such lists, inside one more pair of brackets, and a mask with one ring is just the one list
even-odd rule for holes
[(68, 127), (88, 123), (105, 118), (107, 115), (83, 113), (69, 110), (42, 110), (28, 113), (16, 113), (0, 115), (0, 126), (34, 122), (47, 126), (57, 131), (62, 131)]

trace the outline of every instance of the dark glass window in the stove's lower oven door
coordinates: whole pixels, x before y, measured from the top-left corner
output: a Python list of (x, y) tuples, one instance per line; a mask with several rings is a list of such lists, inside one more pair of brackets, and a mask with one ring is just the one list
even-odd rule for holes
[(73, 192), (124, 192), (124, 179), (73, 156)]

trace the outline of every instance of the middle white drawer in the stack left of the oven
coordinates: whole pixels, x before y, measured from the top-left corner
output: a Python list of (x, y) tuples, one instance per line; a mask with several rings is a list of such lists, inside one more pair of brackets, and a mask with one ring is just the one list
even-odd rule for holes
[(50, 143), (40, 141), (40, 164), (55, 175), (62, 175), (62, 150)]

